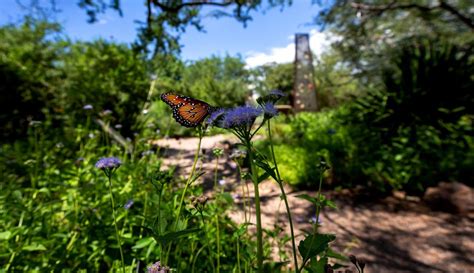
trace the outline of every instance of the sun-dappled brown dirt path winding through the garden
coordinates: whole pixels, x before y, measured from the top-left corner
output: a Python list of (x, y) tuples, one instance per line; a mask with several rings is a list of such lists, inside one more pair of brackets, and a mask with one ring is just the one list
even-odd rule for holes
[[(239, 204), (231, 213), (237, 222), (244, 221), (242, 183), (237, 166), (229, 159), (236, 139), (229, 136), (205, 137), (199, 167), (206, 174), (201, 178), (205, 189), (210, 189), (215, 167), (213, 148), (223, 148), (225, 153), (219, 164), (219, 179), (226, 191), (233, 194)], [(159, 140), (164, 150), (164, 165), (179, 166), (178, 173), (189, 173), (196, 138)], [(245, 185), (245, 184), (244, 184)], [(250, 198), (253, 188), (249, 185)], [(296, 198), (310, 191), (286, 189), (293, 213), (299, 241), (311, 227), (314, 208)], [(272, 181), (260, 184), (262, 222), (265, 228), (275, 223), (289, 234), (284, 205), (280, 200), (278, 185)], [(354, 254), (367, 262), (367, 273), (378, 272), (474, 272), (474, 219), (443, 212), (431, 211), (419, 201), (389, 197), (379, 201), (364, 200), (349, 193), (325, 193), (338, 205), (338, 210), (322, 214), (322, 232), (337, 235), (334, 247), (345, 254)], [(369, 199), (369, 198), (367, 198)], [(254, 221), (254, 216), (251, 217)], [(289, 249), (289, 244), (287, 246)]]

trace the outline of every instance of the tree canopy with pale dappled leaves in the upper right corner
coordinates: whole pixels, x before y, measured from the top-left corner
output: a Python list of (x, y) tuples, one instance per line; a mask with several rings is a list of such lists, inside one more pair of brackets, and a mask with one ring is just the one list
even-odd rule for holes
[[(315, 17), (315, 23), (340, 37), (333, 45), (358, 74), (376, 74), (399, 41), (416, 36), (474, 41), (471, 1), (336, 0)], [(368, 73), (367, 73), (368, 72)]]

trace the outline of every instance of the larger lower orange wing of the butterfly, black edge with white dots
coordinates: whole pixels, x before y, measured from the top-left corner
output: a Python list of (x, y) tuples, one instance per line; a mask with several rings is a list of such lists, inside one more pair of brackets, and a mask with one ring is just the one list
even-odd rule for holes
[(209, 114), (209, 104), (201, 101), (182, 103), (173, 108), (173, 117), (185, 127), (198, 126)]

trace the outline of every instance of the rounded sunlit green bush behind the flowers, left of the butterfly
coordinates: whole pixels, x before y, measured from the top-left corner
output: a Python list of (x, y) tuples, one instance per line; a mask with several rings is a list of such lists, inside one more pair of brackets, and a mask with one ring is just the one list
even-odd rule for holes
[(126, 45), (97, 40), (70, 44), (63, 64), (67, 77), (61, 99), (72, 124), (91, 104), (97, 113), (111, 110), (112, 125), (121, 124), (118, 130), (131, 136), (150, 88), (143, 56)]

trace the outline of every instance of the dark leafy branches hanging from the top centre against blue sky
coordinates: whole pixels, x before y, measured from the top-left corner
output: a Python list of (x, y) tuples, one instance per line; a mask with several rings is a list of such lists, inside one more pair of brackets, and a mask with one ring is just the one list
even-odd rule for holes
[[(146, 0), (146, 20), (140, 22), (138, 40), (134, 43), (137, 50), (148, 52), (151, 46), (153, 55), (159, 52), (178, 53), (180, 50), (179, 37), (188, 26), (202, 31), (201, 24), (204, 8), (214, 8), (209, 14), (218, 18), (231, 16), (244, 25), (252, 20), (250, 13), (264, 5), (262, 0)], [(290, 0), (268, 0), (268, 6), (285, 6)], [(89, 22), (97, 21), (97, 15), (107, 9), (113, 9), (119, 14), (123, 11), (119, 0), (106, 4), (105, 0), (81, 0), (79, 6), (86, 10)]]

